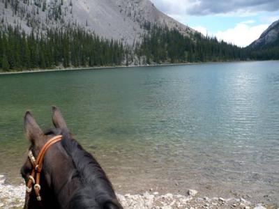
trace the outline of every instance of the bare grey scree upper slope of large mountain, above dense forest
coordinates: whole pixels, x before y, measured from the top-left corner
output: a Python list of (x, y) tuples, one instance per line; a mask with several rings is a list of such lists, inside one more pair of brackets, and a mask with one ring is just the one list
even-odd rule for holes
[(2, 26), (20, 26), (27, 33), (80, 26), (128, 45), (140, 41), (149, 24), (176, 29), (184, 36), (195, 33), (149, 0), (3, 0), (0, 8)]

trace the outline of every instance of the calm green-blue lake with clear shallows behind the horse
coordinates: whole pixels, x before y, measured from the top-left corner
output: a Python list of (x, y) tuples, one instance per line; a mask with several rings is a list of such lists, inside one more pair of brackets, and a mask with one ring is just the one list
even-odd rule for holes
[(0, 75), (0, 174), (17, 184), (29, 109), (55, 104), (116, 191), (279, 203), (279, 62)]

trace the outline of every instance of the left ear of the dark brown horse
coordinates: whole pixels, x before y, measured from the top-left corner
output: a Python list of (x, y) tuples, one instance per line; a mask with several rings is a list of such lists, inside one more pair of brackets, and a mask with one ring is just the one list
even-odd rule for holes
[(40, 130), (39, 125), (31, 116), (30, 111), (27, 111), (24, 116), (24, 132), (27, 135), (27, 138), (30, 139), (33, 143), (36, 139), (43, 135), (42, 130)]

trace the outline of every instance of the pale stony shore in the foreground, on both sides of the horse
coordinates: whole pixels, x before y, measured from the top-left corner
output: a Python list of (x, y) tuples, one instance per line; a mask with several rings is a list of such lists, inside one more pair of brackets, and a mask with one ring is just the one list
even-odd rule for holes
[[(25, 186), (5, 184), (4, 176), (0, 175), (0, 208), (22, 208), (24, 204)], [(199, 192), (189, 190), (188, 194), (159, 194), (145, 192), (144, 194), (117, 194), (119, 201), (127, 209), (172, 209), (172, 208), (241, 208), (264, 209), (262, 205), (252, 205), (245, 199), (223, 199), (199, 196)], [(275, 208), (277, 209), (277, 208)]]

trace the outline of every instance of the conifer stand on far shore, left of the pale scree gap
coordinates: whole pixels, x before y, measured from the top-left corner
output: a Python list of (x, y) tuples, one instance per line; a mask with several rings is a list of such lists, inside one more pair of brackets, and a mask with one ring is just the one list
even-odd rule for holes
[(63, 66), (121, 65), (125, 47), (81, 28), (49, 29), (45, 33), (0, 31), (0, 69), (29, 70)]

